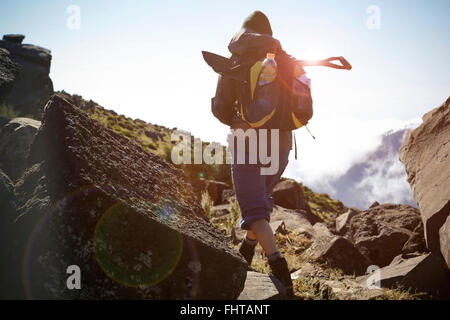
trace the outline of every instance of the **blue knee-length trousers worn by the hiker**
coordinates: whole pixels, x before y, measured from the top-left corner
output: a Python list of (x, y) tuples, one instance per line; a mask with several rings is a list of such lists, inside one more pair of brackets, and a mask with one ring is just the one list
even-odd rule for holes
[[(266, 219), (270, 222), (273, 209), (273, 188), (280, 180), (288, 164), (288, 150), (280, 149), (279, 168), (274, 175), (261, 175), (262, 164), (231, 165), (236, 199), (241, 208), (241, 229), (250, 230), (253, 221)], [(248, 155), (246, 155), (248, 158)]]

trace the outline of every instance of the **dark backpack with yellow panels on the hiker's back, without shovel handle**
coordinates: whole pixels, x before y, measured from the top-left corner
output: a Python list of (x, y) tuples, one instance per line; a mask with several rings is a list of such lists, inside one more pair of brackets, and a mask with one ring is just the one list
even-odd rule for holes
[(311, 119), (311, 91), (298, 80), (305, 71), (288, 55), (275, 56), (276, 78), (264, 86), (258, 81), (265, 54), (230, 59), (209, 55), (204, 53), (205, 60), (221, 74), (211, 109), (222, 123), (231, 125), (236, 112), (253, 128), (295, 130)]

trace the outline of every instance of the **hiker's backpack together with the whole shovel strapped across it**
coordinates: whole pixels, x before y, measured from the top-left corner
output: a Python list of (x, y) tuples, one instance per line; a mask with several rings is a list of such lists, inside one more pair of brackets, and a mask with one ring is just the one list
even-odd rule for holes
[[(295, 130), (308, 123), (313, 116), (311, 80), (303, 66), (352, 68), (343, 57), (295, 60), (286, 54), (269, 52), (239, 61), (233, 56), (228, 59), (206, 51), (202, 54), (215, 72), (236, 82), (239, 97), (237, 105), (233, 102), (232, 107), (239, 110), (242, 119), (252, 128)], [(332, 61), (339, 61), (342, 65)], [(212, 102), (230, 106), (230, 103), (220, 103), (214, 99)], [(214, 115), (223, 123), (230, 124), (230, 110), (215, 109)]]

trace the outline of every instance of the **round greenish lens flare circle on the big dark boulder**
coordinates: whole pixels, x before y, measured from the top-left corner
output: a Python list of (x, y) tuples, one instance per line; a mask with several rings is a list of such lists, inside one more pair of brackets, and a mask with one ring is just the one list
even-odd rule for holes
[[(151, 206), (162, 220), (172, 220), (176, 208)], [(102, 270), (114, 281), (136, 287), (167, 278), (178, 264), (183, 248), (181, 233), (158, 223), (128, 203), (112, 206), (99, 220), (94, 249)]]

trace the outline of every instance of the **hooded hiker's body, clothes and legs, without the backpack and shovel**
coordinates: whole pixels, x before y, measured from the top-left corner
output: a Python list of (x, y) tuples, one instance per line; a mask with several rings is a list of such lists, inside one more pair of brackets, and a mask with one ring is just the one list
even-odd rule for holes
[[(268, 18), (260, 11), (253, 12), (242, 25), (242, 29), (233, 37), (229, 46), (233, 55), (243, 57), (258, 55), (261, 52), (279, 51), (281, 47), (272, 38), (272, 29)], [(218, 104), (233, 105), (236, 100), (236, 82), (232, 78), (219, 77), (216, 96), (212, 105), (213, 113)], [(234, 112), (230, 108), (230, 112)], [(231, 128), (233, 130), (250, 128), (239, 112), (234, 112)], [(268, 138), (268, 141), (270, 139)], [(271, 273), (286, 287), (289, 296), (293, 295), (292, 281), (286, 259), (278, 250), (275, 237), (269, 225), (273, 208), (272, 191), (283, 174), (292, 149), (292, 133), (288, 130), (279, 131), (279, 166), (276, 174), (261, 175), (261, 164), (232, 164), (232, 176), (236, 198), (241, 208), (241, 228), (247, 230), (245, 239), (239, 245), (239, 252), (250, 266), (255, 246), (259, 242), (270, 265)], [(268, 150), (270, 150), (268, 148)]]

